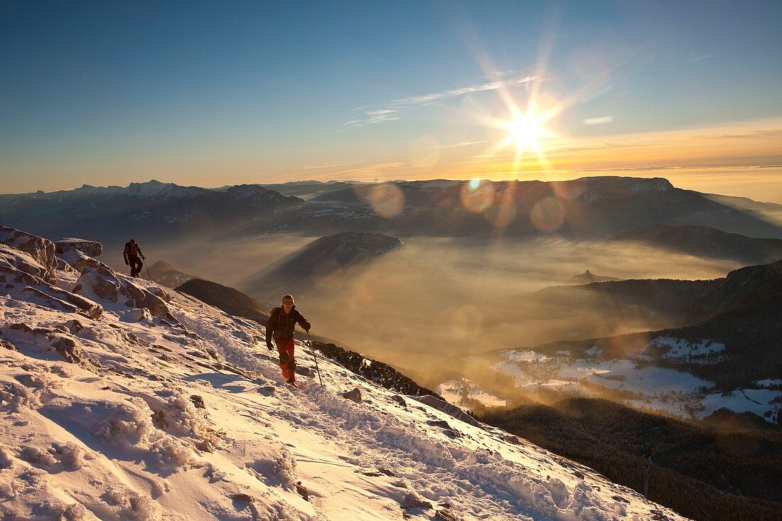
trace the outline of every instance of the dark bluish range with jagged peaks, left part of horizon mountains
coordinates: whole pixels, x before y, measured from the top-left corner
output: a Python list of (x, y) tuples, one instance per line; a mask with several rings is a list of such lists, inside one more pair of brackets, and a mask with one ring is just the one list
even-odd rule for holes
[[(0, 222), (48, 235), (96, 236), (117, 243), (127, 237), (239, 232), (304, 203), (256, 185), (221, 190), (148, 181), (126, 188), (109, 186), (60, 192), (0, 195)], [(63, 220), (63, 216), (68, 216)]]

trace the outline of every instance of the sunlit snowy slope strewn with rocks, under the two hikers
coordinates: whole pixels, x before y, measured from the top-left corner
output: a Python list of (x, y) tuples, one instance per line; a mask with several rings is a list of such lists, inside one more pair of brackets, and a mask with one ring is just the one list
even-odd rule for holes
[(100, 266), (52, 270), (48, 241), (14, 240), (3, 519), (681, 519), (322, 358), (317, 386), (301, 345), (292, 390), (255, 323)]

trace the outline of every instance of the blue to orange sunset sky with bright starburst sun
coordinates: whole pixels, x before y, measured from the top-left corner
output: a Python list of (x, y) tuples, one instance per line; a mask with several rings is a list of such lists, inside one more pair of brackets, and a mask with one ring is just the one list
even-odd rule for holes
[(608, 172), (782, 202), (780, 27), (779, 1), (0, 0), (0, 192)]

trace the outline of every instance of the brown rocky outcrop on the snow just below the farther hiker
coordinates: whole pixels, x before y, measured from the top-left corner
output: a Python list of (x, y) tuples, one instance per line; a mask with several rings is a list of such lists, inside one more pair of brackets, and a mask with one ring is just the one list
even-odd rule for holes
[(152, 316), (170, 317), (167, 304), (141, 286), (107, 268), (84, 268), (74, 293), (93, 300), (107, 300), (127, 307), (146, 307)]

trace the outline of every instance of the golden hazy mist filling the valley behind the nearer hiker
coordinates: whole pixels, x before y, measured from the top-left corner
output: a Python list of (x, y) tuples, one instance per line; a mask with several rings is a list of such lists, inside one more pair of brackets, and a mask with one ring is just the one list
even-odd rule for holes
[[(205, 240), (153, 245), (149, 260), (167, 260), (190, 275), (232, 286), (278, 305), (281, 289), (253, 284), (257, 274), (313, 237)], [(554, 340), (612, 336), (666, 327), (676, 317), (643, 310), (623, 317), (611, 302), (583, 295), (572, 302), (537, 292), (567, 284), (589, 269), (616, 278), (719, 278), (738, 268), (640, 244), (529, 239), (404, 238), (404, 247), (373, 263), (314, 277), (296, 293), (312, 332), (385, 361), (423, 382), (447, 372), (478, 372), (463, 355), (533, 347)], [(285, 288), (281, 281), (280, 288)], [(579, 291), (579, 289), (575, 289)], [(279, 294), (278, 294), (279, 293)], [(483, 368), (485, 369), (485, 368)]]

